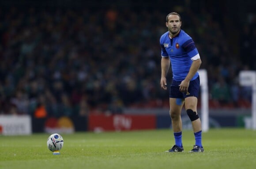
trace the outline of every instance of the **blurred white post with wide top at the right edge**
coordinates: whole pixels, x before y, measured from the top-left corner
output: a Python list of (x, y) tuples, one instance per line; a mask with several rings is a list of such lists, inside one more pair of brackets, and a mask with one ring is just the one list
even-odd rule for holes
[(241, 86), (252, 86), (251, 128), (256, 130), (256, 71), (240, 71), (239, 83)]

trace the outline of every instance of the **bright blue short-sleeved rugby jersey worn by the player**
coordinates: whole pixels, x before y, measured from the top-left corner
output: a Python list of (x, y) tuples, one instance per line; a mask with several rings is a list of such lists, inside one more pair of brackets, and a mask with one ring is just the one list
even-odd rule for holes
[[(198, 54), (195, 43), (192, 38), (181, 30), (174, 38), (169, 38), (169, 31), (163, 34), (160, 38), (160, 45), (162, 48), (162, 57), (170, 58), (173, 79), (175, 81), (182, 81), (188, 75), (191, 67), (191, 58)], [(191, 80), (198, 77), (198, 72)]]

